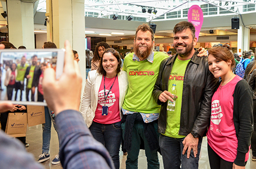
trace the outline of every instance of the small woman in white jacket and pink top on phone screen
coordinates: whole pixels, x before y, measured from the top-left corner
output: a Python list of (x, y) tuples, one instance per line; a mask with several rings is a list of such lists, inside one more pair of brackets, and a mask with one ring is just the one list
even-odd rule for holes
[(16, 76), (17, 76), (17, 65), (15, 63), (11, 64), (11, 68), (8, 68), (6, 71), (5, 77), (5, 86), (7, 87), (7, 97), (8, 100), (12, 100), (12, 93), (13, 89), (15, 88), (16, 84)]

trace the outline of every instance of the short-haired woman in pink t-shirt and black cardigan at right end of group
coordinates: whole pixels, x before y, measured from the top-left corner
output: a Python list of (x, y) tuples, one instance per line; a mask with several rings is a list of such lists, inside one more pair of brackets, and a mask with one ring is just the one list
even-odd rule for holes
[(207, 132), (208, 157), (212, 169), (245, 168), (252, 128), (252, 92), (248, 83), (233, 74), (235, 66), (228, 45), (208, 50), (209, 70), (221, 77), (211, 100)]

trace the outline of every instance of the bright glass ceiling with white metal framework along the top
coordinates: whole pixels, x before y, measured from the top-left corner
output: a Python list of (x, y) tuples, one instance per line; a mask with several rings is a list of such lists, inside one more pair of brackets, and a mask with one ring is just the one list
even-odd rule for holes
[[(118, 15), (117, 19), (127, 20), (131, 15), (132, 21), (148, 22), (186, 18), (193, 5), (201, 7), (204, 17), (210, 17), (255, 12), (255, 4), (256, 0), (85, 0), (84, 16), (112, 19)], [(46, 12), (46, 0), (39, 0), (37, 11)]]

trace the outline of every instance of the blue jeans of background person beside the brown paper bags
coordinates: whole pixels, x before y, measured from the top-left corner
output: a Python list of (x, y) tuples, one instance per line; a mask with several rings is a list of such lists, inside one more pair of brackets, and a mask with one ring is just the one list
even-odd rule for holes
[[(53, 121), (54, 129), (58, 133), (57, 126), (55, 124), (54, 119), (52, 119), (52, 116), (50, 115), (50, 113), (51, 113), (51, 110), (47, 106), (45, 106), (46, 123), (42, 124), (42, 153), (44, 152), (49, 153), (52, 121)], [(60, 144), (59, 144), (59, 148), (60, 148)]]

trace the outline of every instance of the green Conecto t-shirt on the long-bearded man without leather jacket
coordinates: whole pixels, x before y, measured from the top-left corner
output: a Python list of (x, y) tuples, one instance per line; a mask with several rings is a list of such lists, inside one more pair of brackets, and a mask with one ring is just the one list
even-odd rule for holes
[(160, 107), (152, 96), (161, 62), (168, 58), (163, 52), (154, 52), (153, 63), (133, 61), (133, 54), (126, 55), (123, 70), (127, 72), (129, 88), (123, 108), (145, 114), (159, 113)]

